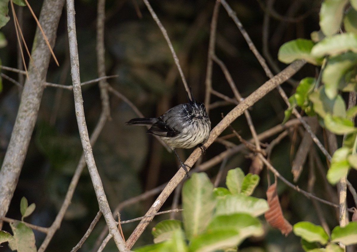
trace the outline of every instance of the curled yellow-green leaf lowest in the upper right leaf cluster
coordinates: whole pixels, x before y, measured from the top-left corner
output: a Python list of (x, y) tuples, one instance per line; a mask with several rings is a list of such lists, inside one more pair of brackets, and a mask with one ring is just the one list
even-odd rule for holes
[(333, 153), (330, 169), (327, 171), (327, 179), (331, 184), (336, 184), (350, 169), (347, 156), (351, 153), (350, 148), (341, 147)]

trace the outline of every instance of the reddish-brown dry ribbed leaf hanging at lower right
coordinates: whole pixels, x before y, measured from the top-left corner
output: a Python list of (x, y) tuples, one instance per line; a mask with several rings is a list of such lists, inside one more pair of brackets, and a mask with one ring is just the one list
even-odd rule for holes
[(266, 221), (272, 227), (280, 229), (281, 233), (287, 236), (291, 232), (292, 226), (283, 216), (278, 194), (276, 192), (276, 182), (267, 190), (267, 201), (269, 210), (264, 214)]

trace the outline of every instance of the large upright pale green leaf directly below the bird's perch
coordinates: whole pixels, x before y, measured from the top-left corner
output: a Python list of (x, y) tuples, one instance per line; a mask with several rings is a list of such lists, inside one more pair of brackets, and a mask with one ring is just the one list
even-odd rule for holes
[(193, 173), (182, 188), (182, 219), (188, 240), (202, 233), (211, 219), (215, 197), (206, 173)]

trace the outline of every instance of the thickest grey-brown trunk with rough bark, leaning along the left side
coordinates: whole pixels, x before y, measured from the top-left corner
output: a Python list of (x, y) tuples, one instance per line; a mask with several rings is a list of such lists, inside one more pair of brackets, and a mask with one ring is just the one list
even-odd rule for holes
[[(54, 46), (57, 26), (62, 14), (64, 0), (45, 0), (40, 14), (40, 24), (51, 47)], [(14, 128), (11, 133), (4, 162), (0, 171), (0, 216), (5, 216), (19, 180), (22, 165), (35, 127), (42, 93), (46, 86), (46, 74), (51, 52), (37, 27), (29, 66), (29, 79), (26, 80), (21, 95), (21, 103)], [(2, 221), (0, 222), (0, 229)]]

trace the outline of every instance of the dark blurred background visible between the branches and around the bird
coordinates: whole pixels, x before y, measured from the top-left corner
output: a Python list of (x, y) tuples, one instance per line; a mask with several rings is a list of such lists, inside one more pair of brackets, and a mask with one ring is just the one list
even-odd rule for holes
[[(42, 1), (29, 1), (36, 15), (39, 16)], [(207, 68), (210, 22), (215, 1), (191, 0), (152, 0), (150, 1), (159, 19), (166, 28), (180, 59), (181, 67), (193, 94), (199, 101), (205, 98), (205, 78)], [(258, 50), (263, 52), (263, 30), (268, 34), (264, 57), (272, 69), (283, 69), (286, 65), (277, 61), (279, 47), (295, 38), (310, 38), (312, 31), (319, 30), (318, 11), (320, 1), (276, 0), (270, 1), (272, 10), (267, 9), (268, 2), (263, 0), (228, 1)], [(80, 57), (81, 81), (97, 78), (96, 65), (96, 5), (94, 0), (75, 1), (76, 27)], [(19, 12), (19, 6), (16, 11)], [(264, 22), (265, 13), (270, 13), (269, 23)], [(36, 23), (29, 10), (23, 8), (23, 28), (29, 48), (32, 46)], [(62, 14), (54, 52), (60, 63), (50, 63), (47, 82), (71, 85), (69, 69), (68, 38), (66, 13)], [(14, 23), (11, 20), (1, 29), (8, 45), (0, 49), (2, 65), (17, 68), (17, 42)], [(119, 77), (108, 79), (109, 84), (125, 95), (147, 117), (157, 117), (170, 107), (186, 101), (186, 93), (174, 64), (169, 47), (159, 28), (152, 19), (146, 6), (140, 0), (107, 0), (105, 23), (106, 73)], [(267, 54), (268, 53), (268, 54)], [(250, 51), (237, 26), (220, 7), (217, 24), (216, 54), (225, 62), (233, 80), (243, 97), (248, 96), (268, 80), (262, 67)], [(28, 62), (28, 57), (26, 57)], [(2, 70), (11, 78), (18, 79), (16, 73)], [(276, 72), (275, 72), (276, 73)], [(316, 69), (306, 65), (294, 78), (300, 80), (306, 76), (315, 76)], [(222, 94), (233, 97), (233, 93), (221, 71), (213, 64), (213, 88)], [(296, 83), (282, 85), (288, 95), (295, 90)], [(97, 83), (83, 86), (84, 108), (89, 132), (94, 129), (101, 111), (100, 93)], [(19, 106), (20, 90), (7, 80), (3, 80), (0, 94), (0, 160), (4, 158)], [(211, 96), (211, 102), (220, 99)], [(145, 133), (144, 127), (128, 127), (124, 122), (137, 117), (132, 109), (115, 95), (110, 94), (111, 120), (106, 123), (99, 139), (93, 147), (96, 165), (112, 209), (120, 202), (139, 195), (146, 190), (167, 182), (177, 171), (177, 161), (159, 142)], [(212, 127), (221, 120), (221, 113), (227, 114), (234, 105), (219, 106), (210, 110)], [(277, 91), (272, 91), (258, 101), (250, 110), (256, 131), (261, 133), (272, 126), (281, 124), (286, 104)], [(251, 133), (245, 117), (239, 117), (232, 126), (245, 139)], [(226, 130), (222, 135), (230, 134)], [(321, 134), (320, 134), (321, 136)], [(276, 136), (266, 139), (270, 142)], [(235, 138), (230, 141), (239, 143)], [(293, 143), (298, 144), (299, 138)], [(290, 153), (292, 142), (285, 138), (275, 147), (271, 162), (279, 172), (292, 181)], [(219, 143), (213, 143), (199, 162), (205, 162), (226, 149)], [(37, 124), (32, 136), (20, 180), (12, 199), (7, 217), (20, 219), (20, 199), (25, 196), (29, 204), (35, 203), (35, 212), (25, 219), (39, 226), (50, 226), (59, 210), (67, 187), (81, 155), (81, 142), (74, 112), (72, 91), (47, 87), (44, 91)], [(180, 150), (181, 159), (185, 159), (192, 150)], [(295, 148), (296, 151), (296, 148)], [(228, 159), (226, 170), (241, 167), (246, 173), (251, 159), (248, 151), (236, 154)], [(325, 162), (325, 161), (324, 161)], [(219, 164), (207, 170), (213, 179)], [(353, 175), (353, 174), (352, 174)], [(305, 169), (298, 181), (301, 188), (307, 187), (308, 170)], [(354, 176), (356, 177), (356, 176)], [(317, 174), (317, 182), (321, 178)], [(224, 186), (224, 180), (220, 183)], [(261, 182), (256, 197), (266, 198), (266, 170), (261, 173)], [(326, 198), (322, 188), (315, 187), (315, 193)], [(307, 220), (319, 224), (317, 214), (312, 210), (311, 202), (296, 191), (278, 183), (282, 209), (286, 219), (292, 224)], [(129, 220), (145, 214), (154, 198), (141, 201), (121, 210), (121, 219)], [(162, 210), (171, 208), (172, 196)], [(328, 224), (338, 224), (334, 209), (321, 205)], [(47, 251), (70, 251), (81, 239), (98, 211), (98, 204), (87, 170), (85, 169), (66, 213), (61, 228), (56, 232)], [(135, 246), (152, 243), (151, 228), (168, 215), (155, 217)], [(180, 219), (180, 214), (176, 215)], [(262, 221), (265, 220), (262, 218)], [(104, 227), (103, 219), (99, 222), (81, 251), (91, 251), (96, 238)], [(124, 224), (122, 228), (126, 238), (134, 230), (137, 222)], [(288, 237), (280, 231), (266, 226), (264, 237), (248, 239), (241, 251), (302, 251), (299, 239), (292, 233)], [(9, 226), (5, 225), (9, 231)], [(44, 234), (36, 232), (37, 247)], [(5, 248), (6, 248), (5, 244)], [(4, 249), (4, 248), (2, 248)], [(116, 251), (114, 242), (110, 242), (105, 251)]]

